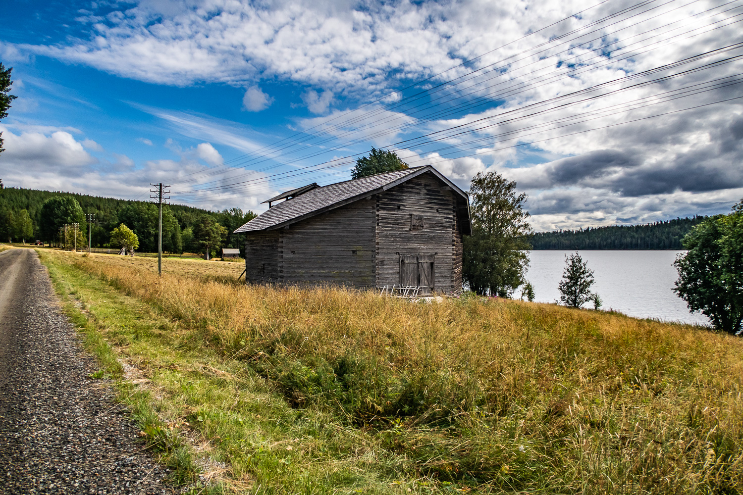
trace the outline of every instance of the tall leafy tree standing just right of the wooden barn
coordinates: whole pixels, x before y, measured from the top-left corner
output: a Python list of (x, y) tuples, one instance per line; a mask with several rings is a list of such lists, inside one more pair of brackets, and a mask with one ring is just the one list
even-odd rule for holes
[(464, 281), (478, 294), (510, 297), (525, 282), (525, 252), (533, 230), (523, 210), (525, 193), (495, 172), (479, 173), (470, 186), (472, 235), (464, 237)]

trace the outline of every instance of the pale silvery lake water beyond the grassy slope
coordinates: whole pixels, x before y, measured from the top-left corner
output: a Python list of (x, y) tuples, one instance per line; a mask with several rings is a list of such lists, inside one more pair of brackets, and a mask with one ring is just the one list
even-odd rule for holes
[[(534, 286), (534, 301), (559, 301), (557, 284), (565, 269), (565, 256), (574, 251), (531, 251), (526, 278)], [(598, 292), (602, 309), (614, 309), (637, 318), (709, 324), (701, 313), (691, 313), (672, 292), (678, 273), (672, 265), (683, 251), (579, 251), (594, 271), (591, 292)], [(520, 295), (516, 292), (514, 297)], [(591, 303), (585, 307), (593, 307)]]

